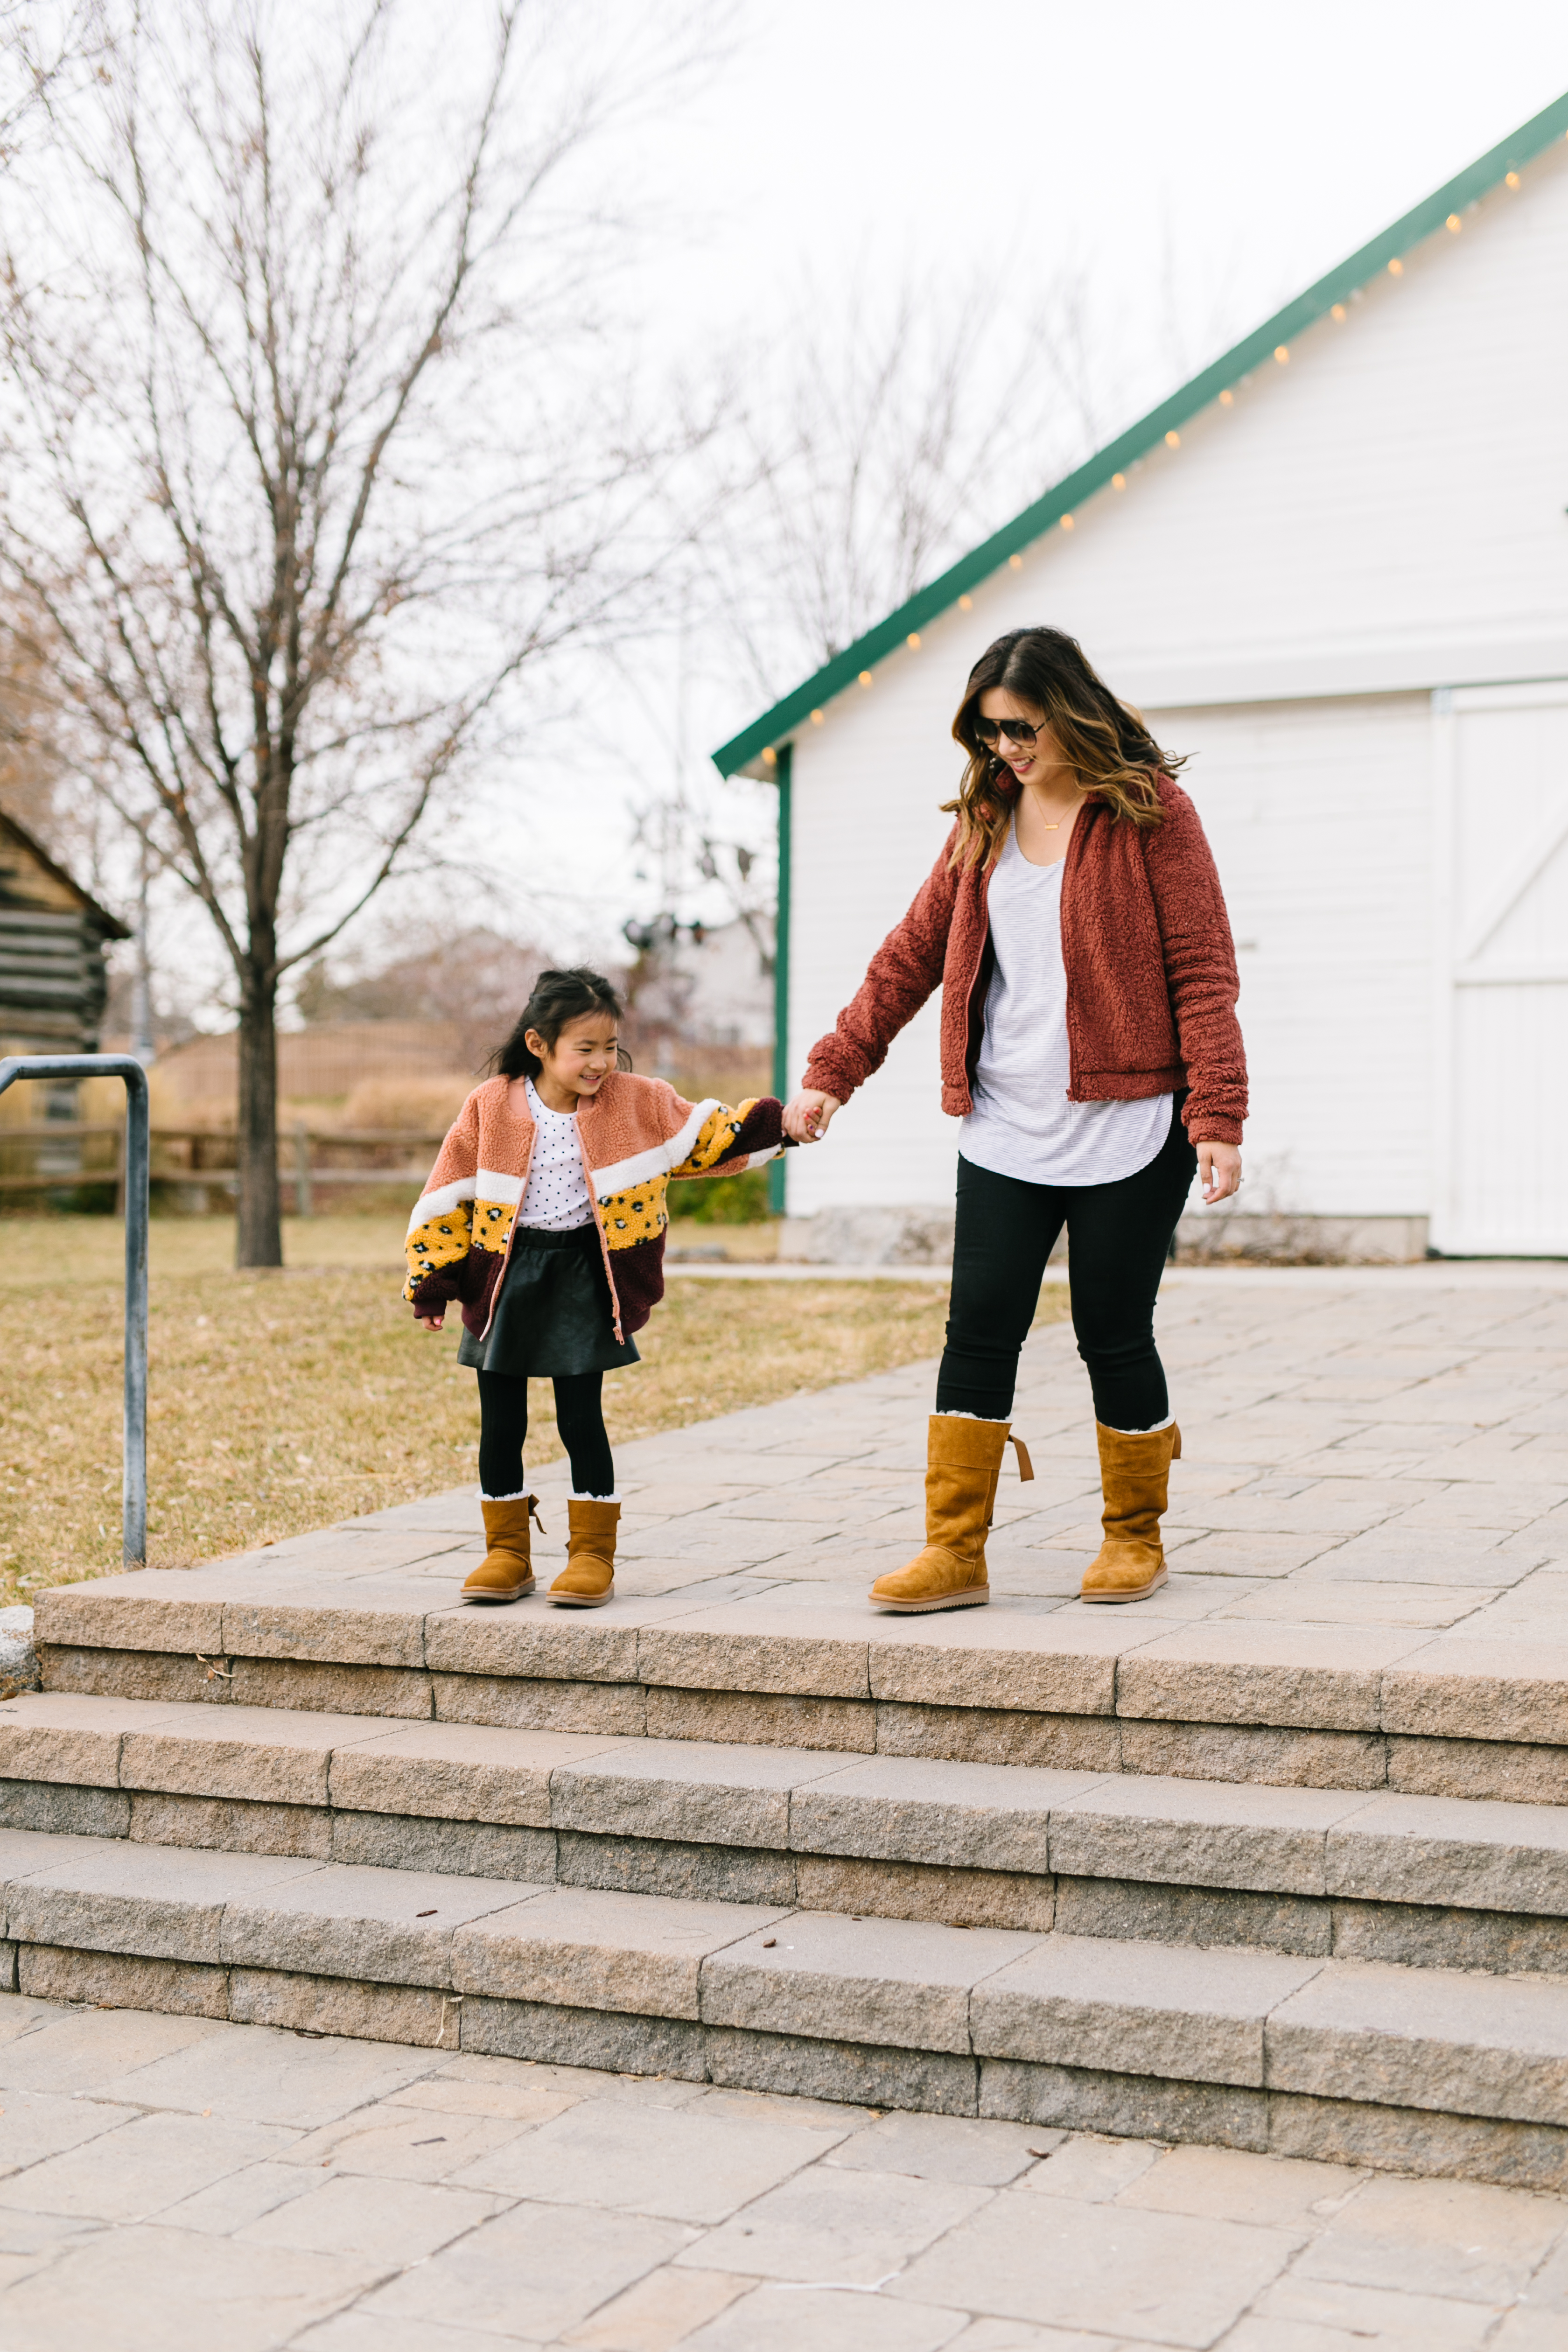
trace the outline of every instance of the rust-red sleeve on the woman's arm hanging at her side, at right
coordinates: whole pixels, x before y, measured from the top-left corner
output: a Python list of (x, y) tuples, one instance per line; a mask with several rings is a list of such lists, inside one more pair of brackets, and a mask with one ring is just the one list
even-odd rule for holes
[(1187, 1065), (1194, 1143), (1239, 1143), (1246, 1047), (1237, 1021), (1237, 950), (1204, 821), (1180, 786), (1161, 788), (1166, 821), (1147, 835), (1147, 873), (1166, 957), (1175, 1037)]

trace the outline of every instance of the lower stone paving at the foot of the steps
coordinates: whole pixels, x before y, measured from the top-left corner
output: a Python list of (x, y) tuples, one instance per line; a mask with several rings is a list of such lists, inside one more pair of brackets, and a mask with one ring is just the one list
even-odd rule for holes
[(0, 1999), (7, 2352), (1561, 2352), (1568, 2201)]

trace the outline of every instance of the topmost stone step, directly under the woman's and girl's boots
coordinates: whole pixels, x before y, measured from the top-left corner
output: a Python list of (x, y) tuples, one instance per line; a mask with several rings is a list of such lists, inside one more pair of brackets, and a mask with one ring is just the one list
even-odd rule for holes
[[(592, 1618), (456, 1602), (458, 1536), (49, 1590), (45, 1686), (1072, 1771), (1556, 1804), (1568, 1644), (1389, 1625), (1173, 1623), (1053, 1602), (884, 1618), (813, 1585), (708, 1585)], [(752, 1581), (755, 1585), (755, 1581)]]

